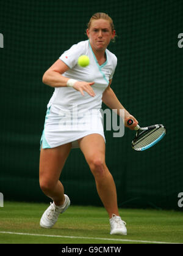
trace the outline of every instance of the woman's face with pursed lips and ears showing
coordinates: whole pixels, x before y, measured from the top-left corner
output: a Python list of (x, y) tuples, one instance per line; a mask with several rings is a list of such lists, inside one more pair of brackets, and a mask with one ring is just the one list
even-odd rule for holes
[(112, 31), (108, 20), (92, 20), (90, 29), (87, 29), (87, 36), (96, 51), (104, 51), (110, 40), (115, 37), (115, 30)]

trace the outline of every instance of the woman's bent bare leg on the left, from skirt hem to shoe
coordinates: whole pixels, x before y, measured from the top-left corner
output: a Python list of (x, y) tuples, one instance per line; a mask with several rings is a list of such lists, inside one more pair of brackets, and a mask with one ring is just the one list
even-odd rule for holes
[(64, 189), (59, 181), (63, 165), (71, 150), (71, 143), (56, 148), (41, 148), (40, 152), (40, 187), (56, 205), (63, 205)]

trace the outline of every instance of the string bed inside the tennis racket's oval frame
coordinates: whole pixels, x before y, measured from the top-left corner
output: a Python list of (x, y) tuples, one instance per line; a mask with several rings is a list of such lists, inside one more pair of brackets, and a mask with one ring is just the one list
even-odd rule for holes
[(165, 134), (164, 127), (146, 130), (145, 132), (142, 132), (142, 134), (139, 134), (139, 137), (137, 135), (137, 138), (134, 139), (132, 145), (134, 149), (143, 148), (156, 141), (162, 134)]

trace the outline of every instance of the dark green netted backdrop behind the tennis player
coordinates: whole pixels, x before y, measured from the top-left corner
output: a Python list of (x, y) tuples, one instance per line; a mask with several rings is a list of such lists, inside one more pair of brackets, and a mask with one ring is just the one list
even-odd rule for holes
[[(148, 151), (131, 149), (134, 133), (106, 131), (106, 162), (120, 207), (178, 208), (182, 180), (182, 56), (180, 0), (1, 1), (1, 174), (4, 200), (49, 201), (38, 184), (39, 143), (53, 88), (46, 69), (74, 43), (86, 40), (95, 12), (107, 12), (118, 37), (112, 88), (141, 126), (162, 123), (167, 135)], [(105, 106), (103, 106), (105, 108)], [(101, 205), (80, 149), (71, 151), (61, 176), (73, 205)]]

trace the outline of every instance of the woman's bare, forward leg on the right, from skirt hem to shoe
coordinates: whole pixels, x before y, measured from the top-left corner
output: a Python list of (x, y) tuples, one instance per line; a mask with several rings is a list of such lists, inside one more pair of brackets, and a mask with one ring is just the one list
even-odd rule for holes
[(111, 218), (112, 214), (119, 216), (116, 186), (105, 162), (104, 138), (99, 134), (91, 134), (79, 139), (78, 142), (93, 173), (98, 195), (109, 217)]

